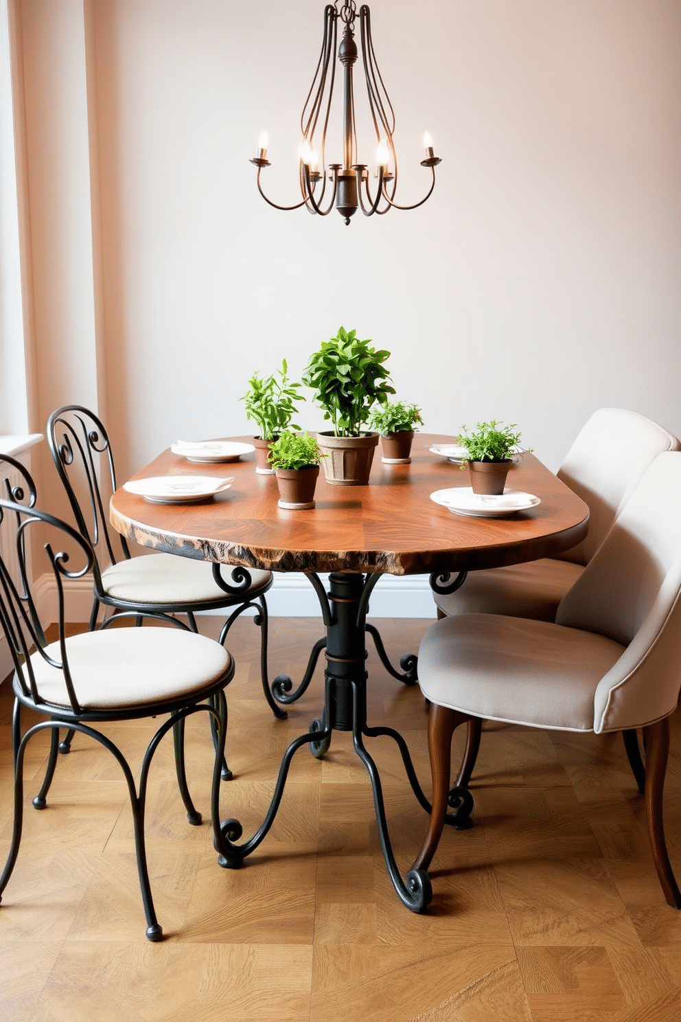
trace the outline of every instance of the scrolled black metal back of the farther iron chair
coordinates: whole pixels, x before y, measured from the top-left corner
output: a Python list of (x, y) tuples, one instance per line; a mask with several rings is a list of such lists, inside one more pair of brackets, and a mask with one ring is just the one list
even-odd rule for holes
[(121, 555), (130, 557), (125, 539), (116, 533), (114, 546), (108, 528), (108, 499), (116, 489), (108, 433), (89, 409), (64, 405), (47, 421), (47, 443), (78, 527), (97, 556), (97, 576)]

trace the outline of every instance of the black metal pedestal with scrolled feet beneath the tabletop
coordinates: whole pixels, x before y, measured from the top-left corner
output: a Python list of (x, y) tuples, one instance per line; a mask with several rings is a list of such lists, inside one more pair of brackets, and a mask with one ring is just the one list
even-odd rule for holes
[[(402, 736), (392, 728), (370, 728), (367, 723), (366, 617), (369, 597), (379, 577), (378, 574), (364, 577), (356, 572), (333, 572), (329, 576), (328, 594), (317, 576), (310, 577), (320, 597), (327, 630), (326, 644), (320, 642), (315, 647), (317, 657), (326, 645), (324, 712), (312, 722), (309, 732), (296, 738), (284, 753), (270, 808), (257, 832), (249, 840), (237, 844), (243, 834), (241, 824), (238, 820), (225, 820), (221, 825), (222, 839), (215, 840), (215, 846), (221, 866), (231, 869), (242, 866), (260, 844), (275, 820), (289, 766), (297, 750), (307, 745), (313, 755), (322, 756), (331, 745), (334, 731), (349, 731), (355, 752), (371, 779), (381, 847), (390, 879), (406, 908), (411, 912), (423, 912), (432, 896), (430, 879), (425, 870), (409, 871), (405, 880), (400, 876), (390, 844), (381, 780), (376, 763), (363, 744), (364, 737), (378, 736), (390, 737), (397, 743), (411, 788), (420, 804), (430, 812), (430, 802), (419, 784)], [(453, 816), (448, 822), (456, 826)], [(465, 825), (463, 818), (460, 823)]]

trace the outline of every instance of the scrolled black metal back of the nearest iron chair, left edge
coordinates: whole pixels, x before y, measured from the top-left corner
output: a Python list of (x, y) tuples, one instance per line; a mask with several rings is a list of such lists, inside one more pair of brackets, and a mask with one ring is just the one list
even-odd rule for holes
[[(32, 698), (36, 703), (45, 704), (38, 691), (34, 663), (31, 659), (32, 655), (37, 653), (55, 670), (62, 672), (71, 708), (75, 712), (80, 712), (81, 706), (66, 656), (63, 584), (64, 579), (82, 578), (92, 570), (94, 552), (88, 541), (70, 525), (47, 512), (38, 510), (35, 507), (36, 487), (29, 473), (13, 459), (2, 460), (11, 461), (27, 480), (25, 491), (21, 485), (12, 485), (11, 481), (5, 478), (3, 490), (9, 492), (9, 496), (7, 499), (0, 499), (0, 628), (7, 640), (15, 678), (21, 692), (28, 698)], [(47, 652), (48, 643), (33, 593), (32, 575), (42, 574), (42, 565), (34, 563), (33, 571), (28, 565), (27, 551), (32, 548), (30, 542), (32, 530), (39, 533), (36, 537), (34, 554), (42, 546), (56, 584), (58, 659), (54, 655), (54, 644), (50, 647), (52, 655)], [(60, 549), (64, 542), (70, 552)], [(74, 558), (79, 563), (76, 567), (68, 567), (69, 561)]]

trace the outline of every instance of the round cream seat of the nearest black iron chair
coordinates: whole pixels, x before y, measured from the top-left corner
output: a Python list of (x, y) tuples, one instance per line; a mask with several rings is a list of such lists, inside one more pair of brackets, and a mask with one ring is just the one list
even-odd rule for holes
[[(68, 665), (84, 709), (130, 709), (183, 699), (224, 675), (230, 654), (205, 636), (173, 628), (108, 629), (66, 640)], [(58, 643), (45, 648), (56, 662)], [(70, 708), (63, 671), (41, 653), (31, 657), (40, 697)]]

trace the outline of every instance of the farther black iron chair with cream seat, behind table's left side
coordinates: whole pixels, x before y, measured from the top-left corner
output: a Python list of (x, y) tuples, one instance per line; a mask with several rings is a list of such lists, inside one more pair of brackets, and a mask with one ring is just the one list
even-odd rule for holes
[[(92, 576), (94, 598), (90, 630), (96, 626), (100, 606), (140, 614), (186, 614), (193, 632), (202, 610), (231, 610), (220, 642), (237, 617), (256, 611), (260, 629), (262, 691), (277, 717), (285, 717), (270, 691), (267, 679), (267, 605), (271, 571), (233, 568), (223, 577), (221, 565), (164, 552), (132, 557), (130, 548), (108, 527), (108, 498), (116, 487), (115, 466), (108, 433), (97, 416), (81, 405), (65, 405), (47, 422), (47, 442), (59, 478), (68, 497), (81, 533), (95, 551)], [(62, 742), (62, 751), (68, 738)]]

